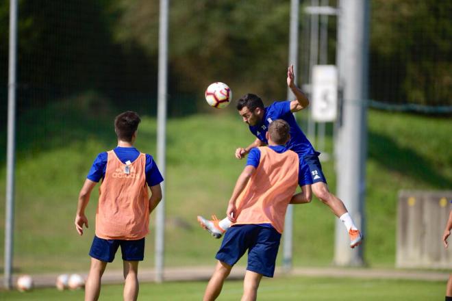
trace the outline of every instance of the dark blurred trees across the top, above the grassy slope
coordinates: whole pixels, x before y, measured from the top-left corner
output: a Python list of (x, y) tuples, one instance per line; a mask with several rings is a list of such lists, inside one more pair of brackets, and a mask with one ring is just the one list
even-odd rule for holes
[[(0, 0), (2, 108), (8, 82), (8, 3)], [(334, 0), (329, 3), (336, 5)], [(245, 92), (283, 99), (289, 10), (288, 0), (172, 0), (170, 112), (204, 108), (203, 92), (212, 81), (228, 83), (234, 99)], [(451, 14), (451, 1), (371, 1), (371, 99), (452, 104)], [(301, 9), (301, 27), (305, 17)], [(19, 107), (87, 90), (116, 104), (127, 101), (152, 107), (158, 21), (159, 1), (19, 1)], [(334, 18), (329, 25), (331, 62)], [(304, 51), (308, 41), (302, 32), (300, 49)], [(299, 77), (299, 81), (307, 79)]]

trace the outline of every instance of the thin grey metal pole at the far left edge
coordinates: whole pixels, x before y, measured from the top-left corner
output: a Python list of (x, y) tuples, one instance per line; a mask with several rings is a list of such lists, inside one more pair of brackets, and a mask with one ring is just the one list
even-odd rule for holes
[(3, 285), (12, 288), (14, 243), (14, 166), (16, 153), (17, 0), (10, 0), (10, 59), (8, 67), (8, 146), (6, 150), (5, 270)]

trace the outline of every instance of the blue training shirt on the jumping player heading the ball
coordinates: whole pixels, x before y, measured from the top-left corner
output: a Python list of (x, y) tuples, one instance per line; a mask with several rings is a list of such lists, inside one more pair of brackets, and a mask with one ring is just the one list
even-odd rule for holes
[(265, 133), (268, 131), (268, 125), (277, 119), (285, 120), (290, 126), (290, 140), (286, 143), (286, 149), (293, 150), (299, 157), (316, 153), (311, 142), (307, 140), (305, 134), (301, 131), (294, 115), (290, 112), (290, 101), (275, 101), (266, 107), (264, 109), (264, 118), (262, 118), (260, 124), (250, 125), (249, 130), (259, 140), (268, 144)]

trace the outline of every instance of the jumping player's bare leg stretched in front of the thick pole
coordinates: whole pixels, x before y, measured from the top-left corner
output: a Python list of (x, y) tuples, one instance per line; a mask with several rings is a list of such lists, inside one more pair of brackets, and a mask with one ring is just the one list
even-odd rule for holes
[(344, 223), (344, 226), (347, 228), (347, 232), (349, 233), (350, 247), (355, 248), (355, 246), (359, 246), (362, 243), (362, 234), (355, 226), (350, 213), (345, 208), (344, 202), (342, 202), (342, 200), (334, 194), (331, 194), (328, 190), (327, 184), (323, 182), (312, 184), (312, 192), (314, 192), (314, 195), (319, 200), (324, 202), (340, 219), (340, 221)]

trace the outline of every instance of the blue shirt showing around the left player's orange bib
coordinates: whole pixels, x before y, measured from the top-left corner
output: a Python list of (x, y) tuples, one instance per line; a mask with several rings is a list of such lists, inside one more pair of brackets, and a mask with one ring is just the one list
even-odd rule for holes
[[(134, 147), (119, 147), (114, 148), (114, 153), (118, 156), (121, 162), (125, 163), (127, 160), (133, 162), (140, 155), (140, 151)], [(86, 179), (93, 182), (99, 182), (105, 176), (105, 170), (107, 170), (107, 152), (97, 155), (94, 163), (92, 163), (91, 169), (88, 172)], [(163, 177), (158, 170), (157, 164), (153, 157), (146, 154), (146, 183), (149, 187), (162, 183)]]

